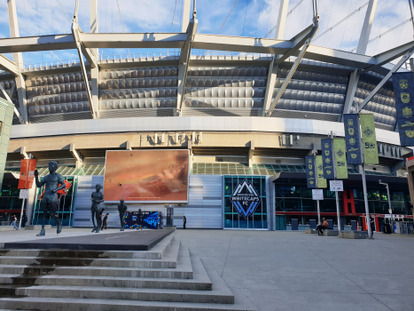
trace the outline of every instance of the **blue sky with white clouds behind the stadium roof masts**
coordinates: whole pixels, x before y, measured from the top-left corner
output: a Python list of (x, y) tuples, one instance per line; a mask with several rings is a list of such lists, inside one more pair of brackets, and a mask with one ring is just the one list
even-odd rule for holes
[[(368, 0), (318, 0), (320, 28), (316, 37), (332, 28)], [(217, 34), (236, 0), (197, 0), (198, 33)], [(191, 1), (192, 3), (192, 1)], [(119, 8), (118, 8), (119, 4)], [(98, 31), (122, 32), (181, 32), (184, 0), (98, 0)], [(299, 4), (299, 5), (297, 5)], [(311, 24), (312, 0), (290, 0), (284, 39), (290, 39)], [(20, 36), (70, 34), (75, 0), (16, 0)], [(238, 0), (220, 35), (274, 38), (269, 30), (277, 23), (280, 0)], [(297, 6), (296, 6), (297, 5)], [(293, 8), (296, 8), (293, 10)], [(352, 51), (358, 44), (367, 5), (348, 20), (332, 28), (312, 44)], [(0, 38), (10, 37), (7, 0), (0, 0)], [(291, 12), (293, 10), (293, 12)], [(120, 17), (121, 12), (121, 17)], [(192, 12), (192, 9), (191, 9)], [(121, 19), (124, 24), (122, 28)], [(379, 0), (370, 39), (410, 19), (407, 0)], [(79, 24), (83, 32), (90, 31), (90, 1), (80, 0)], [(368, 55), (385, 52), (413, 39), (410, 22), (373, 40)], [(176, 51), (169, 49), (169, 52)], [(167, 52), (167, 50), (100, 49), (102, 57), (130, 53)], [(355, 52), (355, 51), (354, 51)], [(5, 54), (12, 59), (11, 54)], [(77, 60), (75, 50), (25, 52), (26, 66), (57, 60)]]

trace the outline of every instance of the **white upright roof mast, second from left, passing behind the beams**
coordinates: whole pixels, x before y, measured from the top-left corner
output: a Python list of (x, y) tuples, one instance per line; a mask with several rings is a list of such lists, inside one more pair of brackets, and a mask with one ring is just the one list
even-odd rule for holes
[[(90, 0), (90, 32), (98, 33), (98, 0)], [(98, 49), (90, 49), (98, 58)], [(90, 68), (92, 107), (99, 118), (99, 68)]]

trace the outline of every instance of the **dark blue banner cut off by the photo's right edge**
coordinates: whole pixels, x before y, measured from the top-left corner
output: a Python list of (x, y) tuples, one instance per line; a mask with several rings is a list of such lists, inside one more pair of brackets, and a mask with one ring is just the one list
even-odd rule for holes
[(397, 110), (398, 132), (403, 147), (414, 146), (414, 74), (412, 72), (393, 74), (395, 108)]

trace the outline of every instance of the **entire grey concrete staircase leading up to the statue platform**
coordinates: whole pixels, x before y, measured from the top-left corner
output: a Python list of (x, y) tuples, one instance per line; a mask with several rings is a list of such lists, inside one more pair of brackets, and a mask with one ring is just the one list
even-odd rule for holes
[(151, 251), (0, 250), (0, 311), (255, 310), (168, 235)]

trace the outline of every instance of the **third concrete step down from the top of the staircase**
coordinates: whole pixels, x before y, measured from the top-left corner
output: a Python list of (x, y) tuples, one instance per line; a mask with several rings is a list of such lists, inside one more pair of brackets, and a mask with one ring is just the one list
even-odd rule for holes
[(176, 268), (145, 268), (145, 267), (53, 267), (43, 265), (0, 265), (3, 275), (81, 275), (100, 277), (146, 277), (146, 278), (176, 278), (192, 279), (190, 254), (188, 249), (177, 247), (179, 241), (173, 241), (165, 258), (176, 257)]

